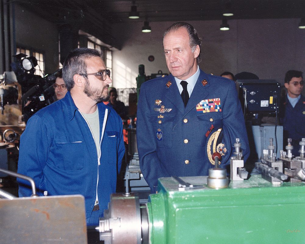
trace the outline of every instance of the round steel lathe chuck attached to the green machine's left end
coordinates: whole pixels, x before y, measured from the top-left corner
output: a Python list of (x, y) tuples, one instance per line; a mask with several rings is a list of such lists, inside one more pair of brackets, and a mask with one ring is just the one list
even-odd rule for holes
[(138, 196), (133, 193), (112, 194), (108, 210), (104, 211), (96, 229), (105, 244), (146, 244), (147, 206), (140, 205)]

